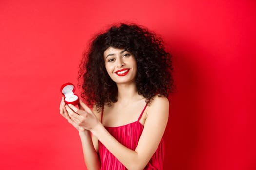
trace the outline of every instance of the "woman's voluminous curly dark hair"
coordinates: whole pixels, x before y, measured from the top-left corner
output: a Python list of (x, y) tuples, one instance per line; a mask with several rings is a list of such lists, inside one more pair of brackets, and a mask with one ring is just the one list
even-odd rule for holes
[(117, 85), (108, 75), (103, 58), (108, 47), (125, 49), (134, 55), (137, 91), (146, 102), (157, 94), (168, 97), (173, 90), (173, 68), (171, 55), (162, 42), (154, 32), (136, 24), (112, 25), (106, 32), (96, 35), (80, 64), (81, 97), (98, 109), (117, 102)]

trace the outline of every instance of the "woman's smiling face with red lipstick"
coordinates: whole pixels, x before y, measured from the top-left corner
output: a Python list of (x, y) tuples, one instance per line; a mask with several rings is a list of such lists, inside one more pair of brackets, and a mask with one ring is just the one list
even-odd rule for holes
[(137, 71), (136, 60), (132, 53), (113, 47), (104, 51), (106, 70), (117, 84), (134, 83)]

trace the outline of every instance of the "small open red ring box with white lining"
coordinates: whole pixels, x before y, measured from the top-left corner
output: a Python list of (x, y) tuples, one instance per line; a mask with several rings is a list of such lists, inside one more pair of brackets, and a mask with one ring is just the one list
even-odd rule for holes
[(75, 85), (72, 83), (65, 83), (61, 86), (61, 93), (65, 96), (64, 100), (66, 104), (77, 105), (79, 103), (78, 95), (74, 94), (75, 92)]

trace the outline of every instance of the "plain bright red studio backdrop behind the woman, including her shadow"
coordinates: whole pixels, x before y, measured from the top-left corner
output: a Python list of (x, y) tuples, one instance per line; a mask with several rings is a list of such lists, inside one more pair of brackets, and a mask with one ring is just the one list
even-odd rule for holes
[(0, 169), (86, 169), (59, 89), (126, 21), (173, 55), (165, 170), (256, 170), (255, 0), (0, 0)]

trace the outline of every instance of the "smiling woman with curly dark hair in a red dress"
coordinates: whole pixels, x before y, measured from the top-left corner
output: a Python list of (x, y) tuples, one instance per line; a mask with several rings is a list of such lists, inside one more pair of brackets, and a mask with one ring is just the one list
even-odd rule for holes
[(98, 34), (83, 56), (79, 108), (60, 114), (78, 131), (88, 170), (162, 170), (172, 90), (171, 56), (159, 37), (134, 24)]

